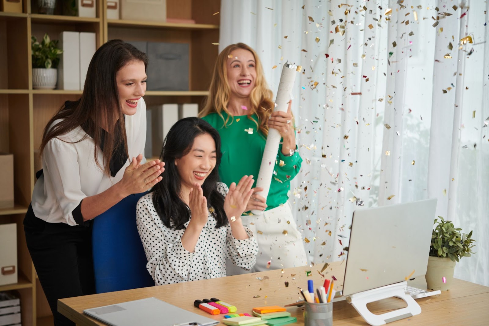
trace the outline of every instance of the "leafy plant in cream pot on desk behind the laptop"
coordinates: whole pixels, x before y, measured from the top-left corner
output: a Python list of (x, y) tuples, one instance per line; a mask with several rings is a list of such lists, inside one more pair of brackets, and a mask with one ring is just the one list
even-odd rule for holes
[(462, 257), (470, 257), (473, 254), (471, 239), (472, 231), (460, 234), (462, 229), (455, 228), (451, 221), (445, 221), (443, 217), (435, 218), (435, 229), (431, 235), (431, 246), (426, 269), (426, 285), (428, 289), (446, 291), (450, 288), (453, 279), (455, 264)]

